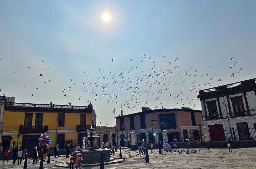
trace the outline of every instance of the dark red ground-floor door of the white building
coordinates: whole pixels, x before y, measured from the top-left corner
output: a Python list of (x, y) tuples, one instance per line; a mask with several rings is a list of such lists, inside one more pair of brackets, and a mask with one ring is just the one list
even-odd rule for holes
[(211, 136), (211, 141), (223, 141), (225, 140), (225, 134), (222, 124), (208, 125)]

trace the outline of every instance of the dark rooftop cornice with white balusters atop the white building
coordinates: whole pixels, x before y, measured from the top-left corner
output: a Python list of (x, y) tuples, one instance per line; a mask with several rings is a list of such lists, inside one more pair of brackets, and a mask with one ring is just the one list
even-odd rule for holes
[(199, 97), (200, 97), (200, 95), (209, 95), (209, 94), (213, 94), (216, 92), (228, 92), (231, 89), (238, 89), (241, 87), (249, 87), (249, 86), (253, 86), (253, 85), (254, 86), (256, 85), (256, 78), (244, 80), (241, 82), (231, 83), (228, 85), (222, 85), (222, 86), (218, 86), (218, 87), (200, 90)]

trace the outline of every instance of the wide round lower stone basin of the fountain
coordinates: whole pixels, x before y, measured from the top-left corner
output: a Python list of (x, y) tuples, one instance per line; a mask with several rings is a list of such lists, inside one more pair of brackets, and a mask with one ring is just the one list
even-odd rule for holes
[[(75, 155), (75, 157), (76, 157), (76, 154), (80, 152), (82, 154), (82, 158), (85, 161), (82, 164), (93, 164), (93, 163), (100, 163), (100, 152), (101, 151), (103, 151), (104, 154), (110, 156), (111, 149), (98, 149), (98, 150), (94, 150), (94, 151), (88, 151), (88, 150), (73, 151), (73, 152), (71, 152), (71, 154)], [(104, 162), (111, 161), (114, 159), (114, 158), (110, 159), (110, 157), (108, 157), (108, 156), (103, 155)], [(95, 157), (95, 158), (93, 158), (93, 157)]]

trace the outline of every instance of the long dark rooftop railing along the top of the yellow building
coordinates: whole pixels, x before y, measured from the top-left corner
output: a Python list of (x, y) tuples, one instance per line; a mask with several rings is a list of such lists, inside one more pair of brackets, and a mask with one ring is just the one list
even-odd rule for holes
[(67, 111), (88, 111), (92, 107), (88, 106), (71, 106), (71, 105), (55, 105), (55, 104), (34, 104), (34, 103), (16, 103), (5, 102), (6, 108), (27, 108), (27, 109), (42, 109), (42, 110), (67, 110)]

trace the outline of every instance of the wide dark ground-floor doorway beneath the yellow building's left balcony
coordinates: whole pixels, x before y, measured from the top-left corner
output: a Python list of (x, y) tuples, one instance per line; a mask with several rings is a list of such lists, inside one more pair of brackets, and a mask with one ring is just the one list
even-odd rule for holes
[(38, 138), (40, 135), (25, 135), (22, 136), (22, 150), (33, 151), (34, 147), (38, 146)]

